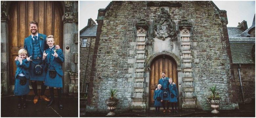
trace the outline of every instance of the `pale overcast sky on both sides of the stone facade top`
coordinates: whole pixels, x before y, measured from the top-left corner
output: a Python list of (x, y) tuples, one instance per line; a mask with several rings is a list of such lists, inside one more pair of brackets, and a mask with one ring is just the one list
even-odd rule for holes
[[(106, 8), (111, 1), (80, 1), (79, 30), (87, 25), (88, 19), (97, 19), (98, 9)], [(228, 27), (236, 27), (238, 22), (247, 21), (252, 25), (255, 14), (255, 1), (213, 1), (220, 10), (227, 11)], [(96, 21), (95, 21), (96, 22)]]

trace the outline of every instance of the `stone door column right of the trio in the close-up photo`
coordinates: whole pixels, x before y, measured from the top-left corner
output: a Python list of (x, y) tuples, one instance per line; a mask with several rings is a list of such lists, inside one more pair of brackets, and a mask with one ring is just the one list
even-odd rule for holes
[(63, 15), (63, 54), (65, 61), (63, 63), (64, 85), (63, 93), (69, 93), (71, 96), (78, 95), (78, 2), (65, 1), (65, 13)]

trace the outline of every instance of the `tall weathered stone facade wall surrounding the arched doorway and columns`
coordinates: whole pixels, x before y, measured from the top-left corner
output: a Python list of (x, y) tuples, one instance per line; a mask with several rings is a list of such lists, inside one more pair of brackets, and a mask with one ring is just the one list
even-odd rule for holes
[[(182, 7), (169, 7), (168, 10), (178, 33), (181, 20), (188, 20), (192, 24), (190, 39), (195, 87), (193, 95), (197, 97), (197, 108), (211, 110), (206, 101), (210, 95), (208, 88), (217, 84), (223, 98), (220, 109), (234, 109), (235, 105), (230, 101), (232, 98), (230, 57), (226, 51), (228, 46), (225, 43), (222, 23), (216, 14), (216, 8), (209, 1), (179, 2)], [(147, 59), (161, 52), (180, 57), (180, 35), (177, 35), (176, 39), (171, 41), (167, 39), (164, 42), (155, 40), (150, 35), (153, 30), (152, 22), (159, 13), (160, 7), (147, 7), (147, 1), (115, 1), (107, 9), (97, 52), (92, 100), (86, 108), (88, 112), (107, 112), (104, 101), (109, 97), (107, 91), (110, 88), (117, 88), (117, 97), (120, 99), (115, 111), (131, 109), (131, 98), (134, 96), (134, 59), (137, 48), (135, 23), (140, 19), (145, 19), (149, 24)], [(161, 44), (166, 47), (156, 48)], [(149, 86), (148, 80), (144, 86)], [(149, 96), (144, 94), (144, 97)]]

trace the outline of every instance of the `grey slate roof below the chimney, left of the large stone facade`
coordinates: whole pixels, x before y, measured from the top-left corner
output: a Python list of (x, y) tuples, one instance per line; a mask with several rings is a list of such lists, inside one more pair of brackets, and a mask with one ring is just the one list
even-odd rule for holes
[(98, 25), (91, 27), (86, 26), (85, 29), (80, 32), (80, 37), (96, 37), (97, 27)]

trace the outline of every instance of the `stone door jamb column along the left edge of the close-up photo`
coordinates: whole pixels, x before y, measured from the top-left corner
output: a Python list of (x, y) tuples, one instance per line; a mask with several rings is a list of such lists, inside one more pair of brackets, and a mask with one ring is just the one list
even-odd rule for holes
[(1, 1), (1, 95), (11, 91), (9, 78), (9, 43), (8, 23), (9, 15), (6, 12), (7, 1)]

